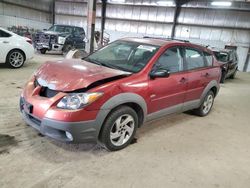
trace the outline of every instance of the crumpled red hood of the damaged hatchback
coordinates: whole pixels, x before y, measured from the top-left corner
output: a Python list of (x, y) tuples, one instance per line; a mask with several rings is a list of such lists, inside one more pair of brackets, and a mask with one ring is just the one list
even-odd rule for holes
[(114, 76), (131, 73), (89, 63), (84, 60), (47, 62), (35, 73), (39, 85), (57, 91), (74, 91)]

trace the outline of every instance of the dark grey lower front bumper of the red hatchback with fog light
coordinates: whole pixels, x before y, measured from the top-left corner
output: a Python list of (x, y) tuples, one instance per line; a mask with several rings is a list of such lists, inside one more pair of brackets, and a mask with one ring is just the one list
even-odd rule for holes
[(49, 118), (40, 119), (32, 114), (32, 106), (25, 102), (24, 98), (20, 98), (20, 111), (23, 120), (42, 135), (46, 135), (53, 139), (81, 143), (96, 142), (100, 126), (97, 120), (81, 121), (81, 122), (63, 122)]

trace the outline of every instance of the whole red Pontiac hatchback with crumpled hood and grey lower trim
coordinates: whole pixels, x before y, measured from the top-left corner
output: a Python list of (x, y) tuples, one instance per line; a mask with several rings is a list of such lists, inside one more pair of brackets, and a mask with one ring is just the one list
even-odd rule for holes
[(65, 142), (128, 146), (145, 121), (193, 110), (206, 116), (221, 71), (209, 49), (187, 41), (124, 38), (83, 60), (43, 64), (20, 98), (24, 121)]

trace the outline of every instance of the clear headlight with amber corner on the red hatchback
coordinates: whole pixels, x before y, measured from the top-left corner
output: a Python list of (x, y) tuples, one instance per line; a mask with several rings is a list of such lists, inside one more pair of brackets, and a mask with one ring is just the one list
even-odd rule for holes
[(99, 99), (103, 93), (72, 93), (64, 96), (57, 104), (58, 108), (77, 110)]

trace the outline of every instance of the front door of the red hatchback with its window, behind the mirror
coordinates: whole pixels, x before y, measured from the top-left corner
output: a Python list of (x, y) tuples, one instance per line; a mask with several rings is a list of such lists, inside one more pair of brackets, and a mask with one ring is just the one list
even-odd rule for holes
[(166, 110), (164, 114), (181, 111), (187, 89), (186, 73), (180, 47), (168, 48), (157, 60), (153, 69), (169, 70), (167, 78), (149, 80), (150, 111)]

